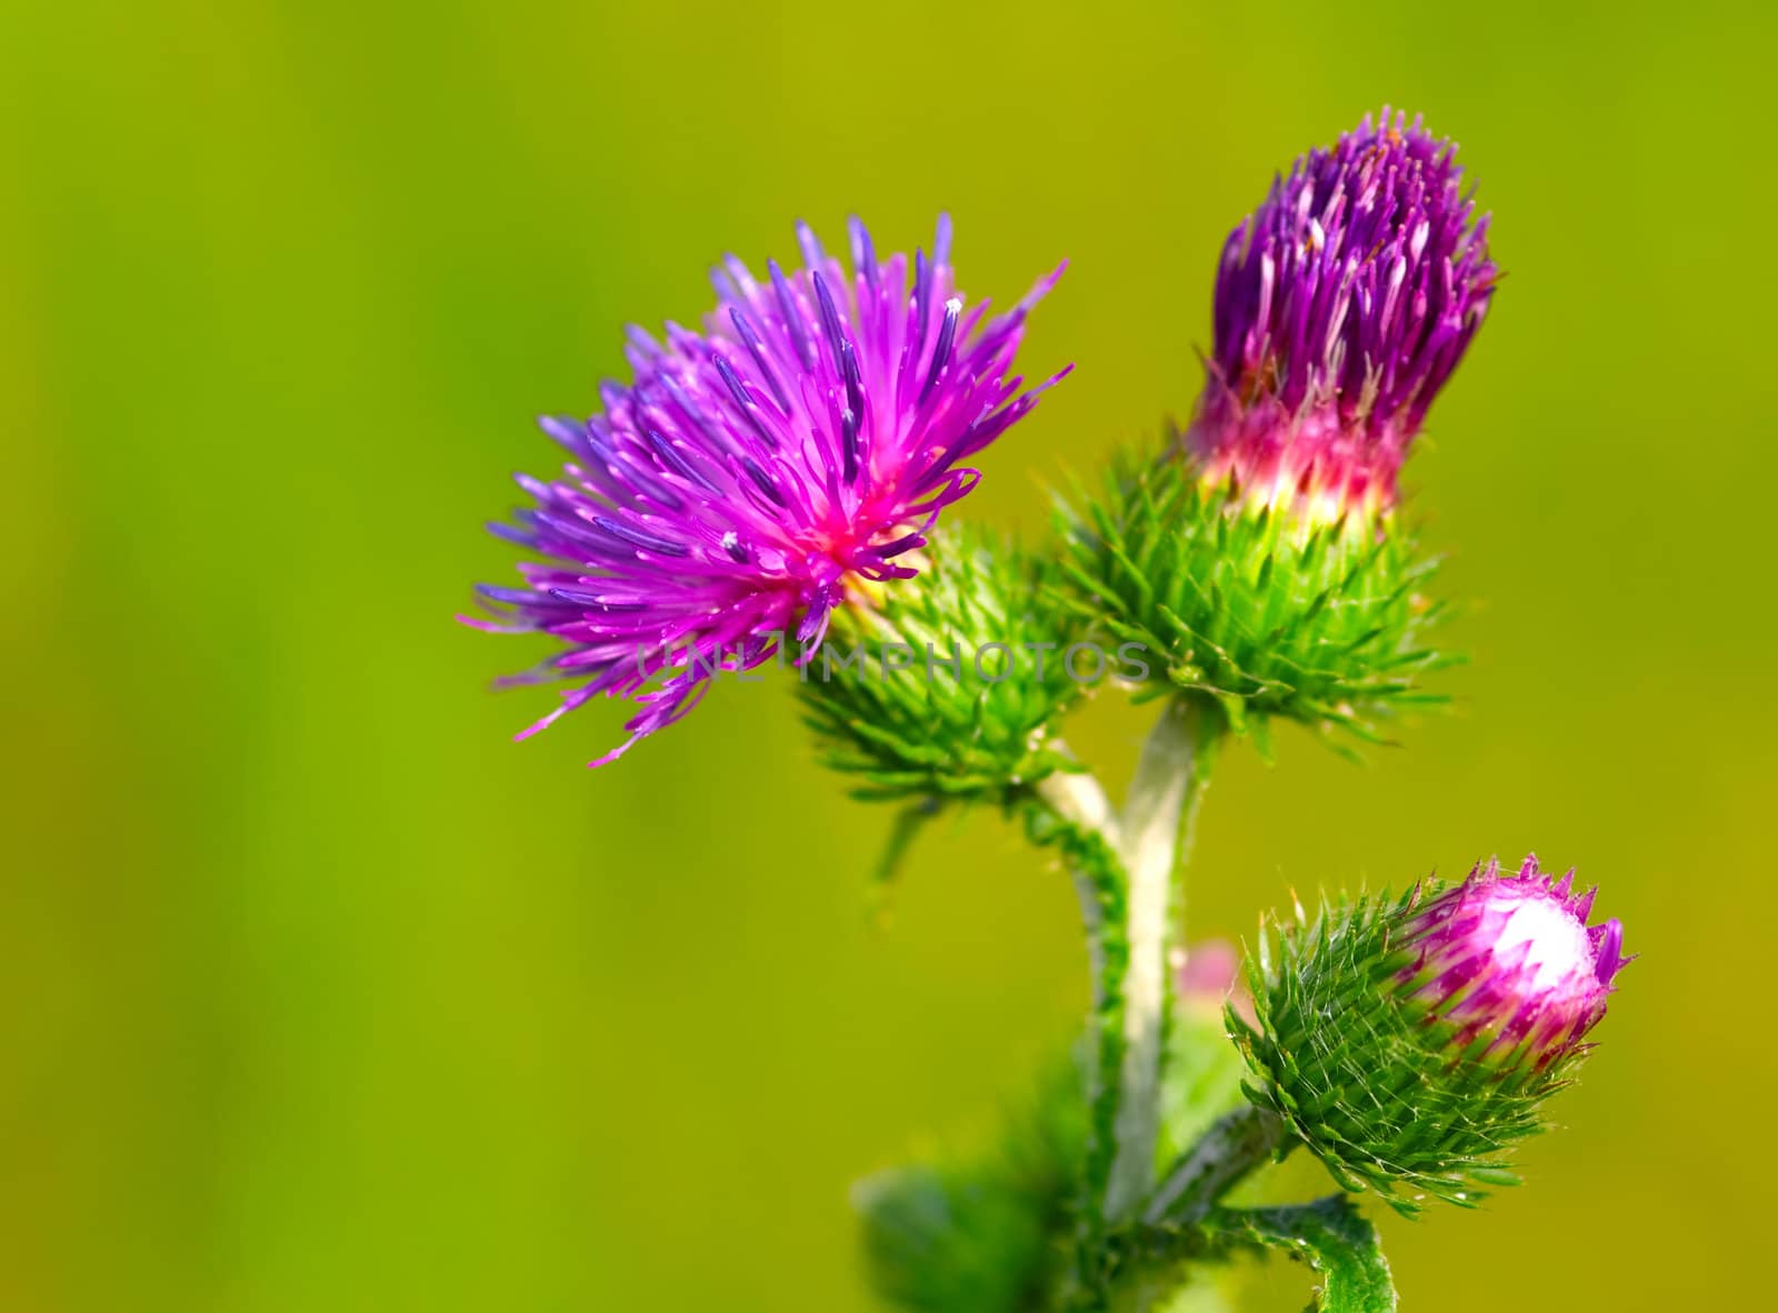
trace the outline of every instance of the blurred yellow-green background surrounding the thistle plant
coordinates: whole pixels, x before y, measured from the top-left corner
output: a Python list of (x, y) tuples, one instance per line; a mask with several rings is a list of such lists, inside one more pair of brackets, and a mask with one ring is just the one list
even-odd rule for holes
[[(1060, 256), (1077, 373), (967, 513), (1189, 410), (1221, 235), (1389, 99), (1510, 270), (1410, 466), (1458, 714), (1216, 782), (1193, 933), (1536, 847), (1641, 951), (1565, 1130), (1385, 1222), (1408, 1308), (1746, 1308), (1773, 1208), (1778, 28), (1753, 5), (32, 4), (0, 18), (0, 1306), (864, 1309), (846, 1185), (1085, 999), (1067, 881), (887, 816), (788, 695), (621, 768), (453, 625), (619, 325), (804, 215)], [(1136, 716), (1077, 736), (1124, 760)], [(1117, 775), (1117, 768), (1108, 769)], [(1453, 1279), (1456, 1274), (1456, 1279)], [(1301, 1283), (1277, 1295), (1296, 1308)], [(1255, 1304), (1257, 1308), (1259, 1304)]]

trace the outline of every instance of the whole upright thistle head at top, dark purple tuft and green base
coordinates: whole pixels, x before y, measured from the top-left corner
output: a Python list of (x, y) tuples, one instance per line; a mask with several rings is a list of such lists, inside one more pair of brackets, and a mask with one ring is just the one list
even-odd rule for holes
[(1223, 243), (1204, 393), (1069, 526), (1086, 606), (1209, 693), (1374, 737), (1442, 661), (1433, 563), (1392, 513), (1499, 277), (1456, 147), (1387, 108), (1305, 153)]

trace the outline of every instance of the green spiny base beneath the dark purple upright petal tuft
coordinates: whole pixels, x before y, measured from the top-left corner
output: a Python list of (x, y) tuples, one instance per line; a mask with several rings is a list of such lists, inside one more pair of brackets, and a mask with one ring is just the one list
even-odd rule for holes
[(1284, 716), (1374, 739), (1390, 709), (1444, 700), (1419, 684), (1451, 663), (1426, 647), (1437, 563), (1392, 515), (1307, 524), (1168, 451), (1115, 462), (1061, 529), (1074, 609), (1145, 649), (1156, 693), (1207, 693), (1236, 730)]

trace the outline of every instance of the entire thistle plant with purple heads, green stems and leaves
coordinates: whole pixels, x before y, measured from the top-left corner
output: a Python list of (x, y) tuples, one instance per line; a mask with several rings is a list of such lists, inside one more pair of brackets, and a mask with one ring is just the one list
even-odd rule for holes
[[(537, 560), (480, 588), (496, 633), (562, 645), (505, 684), (596, 696), (628, 741), (724, 675), (784, 668), (816, 750), (900, 808), (884, 862), (946, 807), (1015, 817), (1077, 894), (1090, 1011), (985, 1150), (855, 1190), (868, 1270), (926, 1313), (1205, 1309), (1237, 1260), (1317, 1270), (1316, 1308), (1396, 1308), (1366, 1194), (1405, 1214), (1510, 1183), (1575, 1078), (1625, 958), (1616, 920), (1527, 858), (1269, 919), (1246, 961), (1186, 947), (1184, 885), (1220, 753), (1294, 721), (1380, 739), (1453, 657), (1401, 467), (1494, 298), (1456, 147), (1387, 108), (1309, 151), (1230, 233), (1191, 421), (1115, 457), (1040, 542), (949, 521), (1035, 405), (1013, 357), (1056, 274), (965, 313), (932, 256), (715, 272), (704, 332), (633, 329), (633, 382), (532, 505)], [(1122, 803), (1069, 746), (1113, 691), (1154, 709)], [(530, 732), (530, 730), (526, 730)], [(523, 737), (523, 736), (521, 736)], [(1264, 1203), (1307, 1150), (1332, 1192)]]

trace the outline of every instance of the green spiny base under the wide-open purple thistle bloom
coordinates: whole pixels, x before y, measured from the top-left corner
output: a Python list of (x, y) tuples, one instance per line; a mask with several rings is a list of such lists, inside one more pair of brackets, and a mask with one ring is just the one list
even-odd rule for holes
[[(1067, 769), (1053, 730), (1086, 684), (1061, 659), (1051, 581), (1051, 565), (962, 529), (939, 535), (921, 576), (880, 606), (836, 611), (800, 672), (827, 764), (866, 798), (990, 801)], [(1040, 670), (1028, 643), (1053, 647)]]

